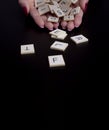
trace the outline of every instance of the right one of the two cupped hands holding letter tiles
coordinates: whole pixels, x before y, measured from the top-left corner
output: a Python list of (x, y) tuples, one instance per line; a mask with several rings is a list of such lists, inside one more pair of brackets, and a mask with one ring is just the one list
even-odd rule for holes
[(81, 7), (79, 14), (77, 14), (74, 18), (74, 21), (62, 21), (61, 26), (63, 29), (67, 29), (68, 31), (72, 31), (75, 27), (79, 27), (82, 23), (83, 14), (86, 11), (87, 4), (89, 0), (79, 0), (77, 5)]

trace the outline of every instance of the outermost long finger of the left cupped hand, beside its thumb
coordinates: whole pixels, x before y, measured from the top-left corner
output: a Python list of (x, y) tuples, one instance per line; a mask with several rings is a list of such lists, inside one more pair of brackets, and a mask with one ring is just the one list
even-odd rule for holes
[(44, 28), (44, 21), (35, 7), (31, 7), (30, 15), (32, 16), (33, 20), (39, 27)]

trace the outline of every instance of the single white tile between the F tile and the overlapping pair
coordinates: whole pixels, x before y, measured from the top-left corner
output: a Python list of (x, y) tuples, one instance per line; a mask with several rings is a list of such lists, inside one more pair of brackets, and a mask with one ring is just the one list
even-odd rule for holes
[(60, 50), (60, 51), (65, 51), (67, 47), (68, 47), (68, 43), (60, 42), (60, 41), (55, 41), (55, 42), (50, 46), (51, 49)]

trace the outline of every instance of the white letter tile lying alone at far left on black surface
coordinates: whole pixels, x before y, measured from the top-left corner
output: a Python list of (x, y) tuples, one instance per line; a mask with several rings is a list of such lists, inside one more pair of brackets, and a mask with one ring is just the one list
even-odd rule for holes
[(33, 44), (27, 44), (27, 45), (21, 45), (21, 54), (33, 54), (35, 53), (34, 45)]

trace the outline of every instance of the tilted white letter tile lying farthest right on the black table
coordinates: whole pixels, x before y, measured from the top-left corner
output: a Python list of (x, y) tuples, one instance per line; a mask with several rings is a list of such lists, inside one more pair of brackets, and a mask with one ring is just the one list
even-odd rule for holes
[(70, 37), (72, 41), (74, 41), (76, 44), (80, 44), (80, 43), (84, 43), (84, 42), (88, 42), (88, 38), (86, 38), (85, 36), (81, 35), (76, 35), (73, 37)]

